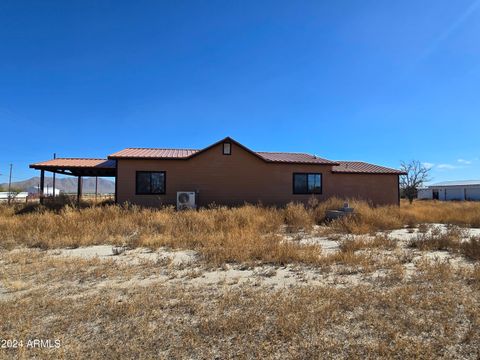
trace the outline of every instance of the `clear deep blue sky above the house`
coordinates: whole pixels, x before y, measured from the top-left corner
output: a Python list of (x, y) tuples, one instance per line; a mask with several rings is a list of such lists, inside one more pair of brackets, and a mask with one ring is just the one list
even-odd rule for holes
[(124, 147), (480, 178), (480, 1), (2, 1), (0, 182)]

